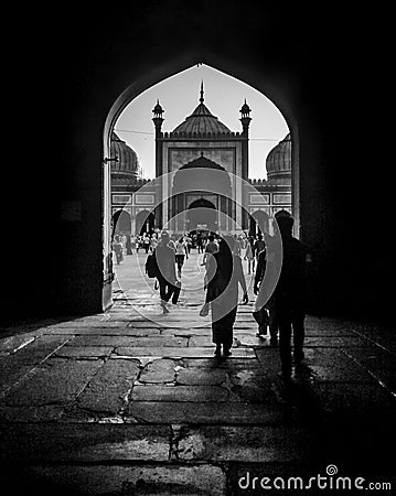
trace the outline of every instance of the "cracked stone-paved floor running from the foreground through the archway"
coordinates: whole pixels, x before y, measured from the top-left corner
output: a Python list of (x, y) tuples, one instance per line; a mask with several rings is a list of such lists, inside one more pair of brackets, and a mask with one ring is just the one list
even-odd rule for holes
[(116, 287), (103, 314), (2, 328), (2, 494), (282, 494), (331, 466), (394, 487), (394, 330), (309, 315), (286, 385), (250, 296), (227, 359), (183, 292), (167, 315)]

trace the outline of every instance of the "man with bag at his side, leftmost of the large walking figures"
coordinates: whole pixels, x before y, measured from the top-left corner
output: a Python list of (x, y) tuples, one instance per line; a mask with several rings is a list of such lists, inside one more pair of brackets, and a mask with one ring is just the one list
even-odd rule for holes
[(154, 252), (159, 269), (157, 279), (160, 287), (161, 308), (163, 313), (169, 313), (167, 306), (169, 300), (172, 298), (172, 303), (176, 304), (180, 294), (175, 270), (175, 252), (170, 241), (171, 238), (169, 233), (163, 230)]

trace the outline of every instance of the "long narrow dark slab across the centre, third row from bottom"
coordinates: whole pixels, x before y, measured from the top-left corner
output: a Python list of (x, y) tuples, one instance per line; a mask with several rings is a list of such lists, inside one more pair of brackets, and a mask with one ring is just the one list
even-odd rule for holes
[(221, 424), (221, 425), (269, 425), (279, 424), (283, 418), (281, 407), (229, 402), (171, 402), (135, 401), (128, 405), (125, 418), (138, 422), (157, 424)]

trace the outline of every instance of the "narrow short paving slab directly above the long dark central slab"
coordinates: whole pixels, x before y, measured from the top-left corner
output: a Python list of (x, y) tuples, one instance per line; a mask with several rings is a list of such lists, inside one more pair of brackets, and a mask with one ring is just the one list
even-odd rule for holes
[(226, 388), (218, 386), (135, 386), (131, 401), (231, 401)]

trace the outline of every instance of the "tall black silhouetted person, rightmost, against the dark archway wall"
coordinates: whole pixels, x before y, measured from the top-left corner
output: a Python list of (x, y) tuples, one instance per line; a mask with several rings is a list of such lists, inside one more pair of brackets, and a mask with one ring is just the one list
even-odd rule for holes
[(279, 325), (279, 352), (282, 377), (291, 376), (291, 330), (295, 364), (302, 362), (307, 298), (307, 249), (291, 234), (292, 216), (281, 211), (275, 216), (282, 239), (282, 267), (276, 285), (275, 309)]

